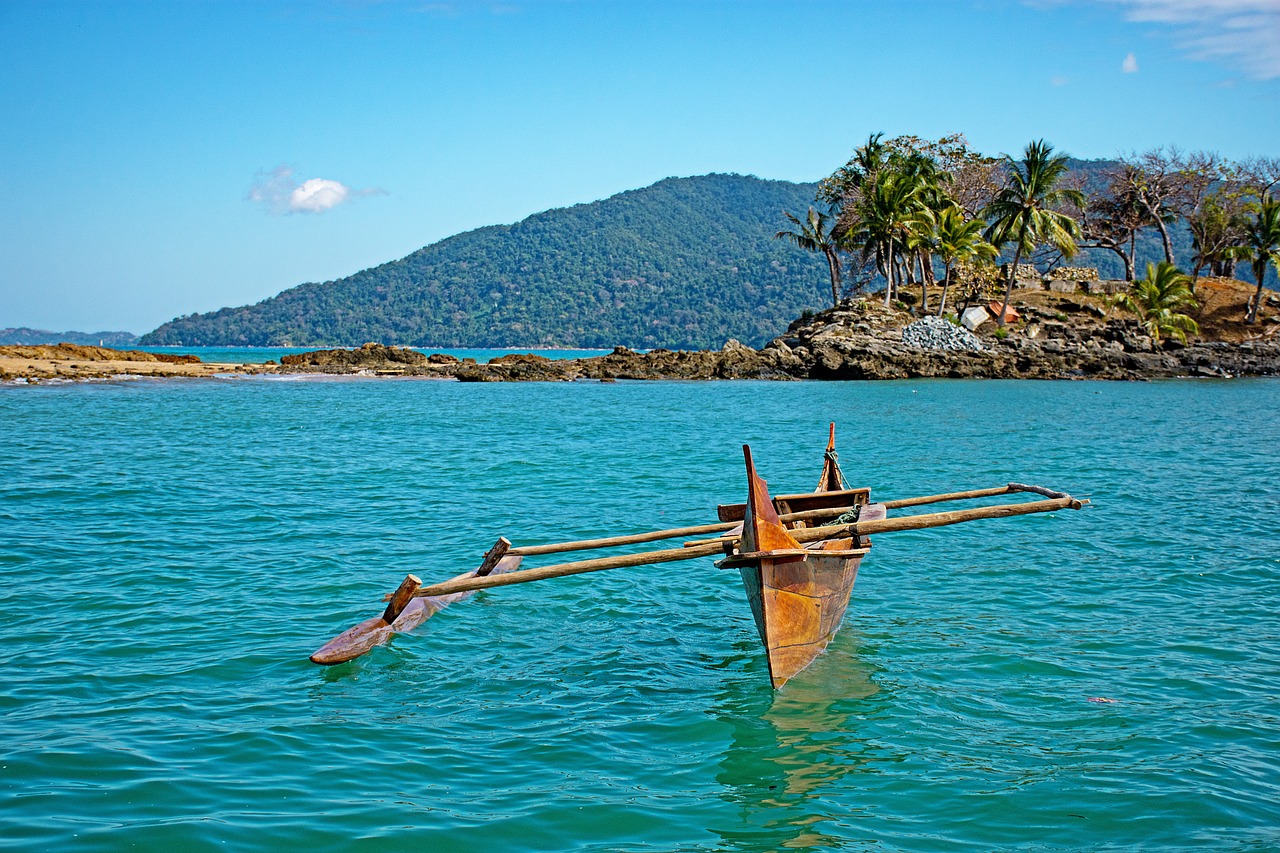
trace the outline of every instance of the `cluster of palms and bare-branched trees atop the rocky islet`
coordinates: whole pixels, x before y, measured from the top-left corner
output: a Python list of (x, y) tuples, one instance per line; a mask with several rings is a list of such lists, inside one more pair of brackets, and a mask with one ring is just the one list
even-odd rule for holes
[[(1138, 260), (1158, 254), (1167, 265), (1161, 282), (1181, 275), (1174, 266), (1178, 255), (1190, 257), (1194, 275), (1208, 269), (1230, 277), (1239, 260), (1248, 260), (1258, 280), (1252, 321), (1262, 280), (1271, 274), (1267, 266), (1280, 269), (1280, 214), (1268, 207), (1275, 186), (1280, 159), (1274, 158), (1231, 163), (1211, 152), (1155, 149), (1115, 161), (1079, 161), (1037, 141), (1019, 159), (997, 160), (970, 151), (960, 134), (929, 141), (876, 133), (818, 184), (815, 200), (838, 211), (828, 242), (836, 261), (841, 252), (849, 256), (845, 289), (859, 291), (878, 278), (884, 305), (897, 300), (919, 313), (932, 310), (937, 265), (941, 316), (952, 287), (960, 287), (968, 306), (996, 296), (1000, 282), (1007, 310), (1021, 269), (1050, 274), (1084, 251), (1084, 263), (1101, 278), (1133, 280)], [(1002, 273), (995, 268), (997, 257), (1009, 261)], [(1068, 277), (1080, 272), (1062, 269)], [(919, 300), (900, 292), (914, 283), (920, 284)], [(1194, 277), (1187, 288), (1194, 297)], [(1160, 292), (1172, 298), (1172, 291)], [(1176, 311), (1151, 310), (1165, 333), (1187, 328), (1160, 319)]]

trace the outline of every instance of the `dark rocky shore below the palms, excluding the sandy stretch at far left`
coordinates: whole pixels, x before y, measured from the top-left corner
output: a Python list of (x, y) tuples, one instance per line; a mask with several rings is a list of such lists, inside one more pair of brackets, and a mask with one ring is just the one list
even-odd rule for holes
[[(906, 311), (860, 301), (791, 324), (760, 350), (730, 341), (719, 351), (616, 347), (591, 359), (552, 360), (507, 355), (489, 364), (448, 355), (365, 345), (285, 356), (285, 373), (372, 373), (461, 382), (707, 380), (707, 379), (1155, 379), (1169, 377), (1280, 375), (1280, 342), (1181, 345), (1155, 342), (1134, 319), (1111, 318), (1071, 302), (1020, 306), (1016, 330), (988, 333), (978, 348), (931, 348), (911, 339)], [(1075, 307), (1074, 314), (1064, 307)], [(919, 324), (918, 324), (919, 325)], [(927, 325), (927, 324), (925, 324)], [(914, 336), (919, 338), (919, 336)]]

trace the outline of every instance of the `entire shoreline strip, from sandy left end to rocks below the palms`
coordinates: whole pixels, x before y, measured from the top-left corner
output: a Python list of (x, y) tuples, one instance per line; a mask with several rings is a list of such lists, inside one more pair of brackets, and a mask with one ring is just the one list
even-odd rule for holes
[[(937, 318), (916, 318), (878, 300), (841, 304), (791, 324), (760, 350), (730, 341), (718, 351), (616, 347), (590, 359), (506, 355), (488, 364), (445, 353), (366, 343), (284, 356), (279, 365), (201, 364), (195, 356), (102, 347), (0, 347), (0, 379), (90, 379), (118, 375), (334, 374), (460, 382), (709, 379), (1157, 379), (1280, 375), (1280, 296), (1244, 339), (1153, 341), (1137, 319), (1080, 295), (1016, 302), (1019, 321), (979, 334)], [(997, 306), (998, 307), (998, 306)], [(1234, 311), (1233, 311), (1234, 316)], [(1203, 323), (1202, 323), (1203, 325)], [(1219, 329), (1221, 330), (1221, 329)], [(1239, 329), (1233, 333), (1239, 336)], [(1220, 336), (1225, 337), (1225, 336)]]

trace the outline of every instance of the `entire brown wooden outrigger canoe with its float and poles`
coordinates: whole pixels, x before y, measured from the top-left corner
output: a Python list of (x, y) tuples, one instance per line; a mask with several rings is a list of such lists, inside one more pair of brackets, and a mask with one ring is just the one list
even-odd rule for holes
[[(746, 457), (746, 502), (718, 507), (718, 524), (524, 547), (513, 547), (499, 537), (472, 571), (428, 587), (415, 575), (406, 576), (399, 588), (384, 598), (388, 605), (381, 616), (365, 620), (333, 638), (311, 656), (311, 661), (333, 665), (357, 658), (480, 589), (722, 555), (716, 565), (737, 569), (742, 575), (746, 599), (764, 643), (769, 680), (774, 688), (781, 688), (822, 654), (836, 635), (849, 607), (858, 567), (870, 549), (872, 534), (1079, 510), (1088, 503), (1062, 492), (1020, 483), (872, 503), (870, 489), (849, 488), (845, 482), (836, 456), (835, 424), (831, 425), (818, 487), (813, 492), (771, 498), (768, 484), (755, 473), (751, 448), (744, 446), (742, 452)], [(899, 519), (887, 516), (888, 510), (1018, 492), (1038, 494), (1044, 500)], [(525, 557), (709, 534), (717, 535), (685, 542), (681, 548), (520, 569)]]

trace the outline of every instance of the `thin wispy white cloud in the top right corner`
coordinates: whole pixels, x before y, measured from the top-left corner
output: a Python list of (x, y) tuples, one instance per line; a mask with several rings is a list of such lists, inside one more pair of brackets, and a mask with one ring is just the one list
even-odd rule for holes
[[(1046, 5), (1044, 0), (1025, 1)], [(1117, 6), (1129, 20), (1167, 28), (1192, 59), (1216, 61), (1256, 79), (1280, 77), (1280, 0), (1089, 1)]]

